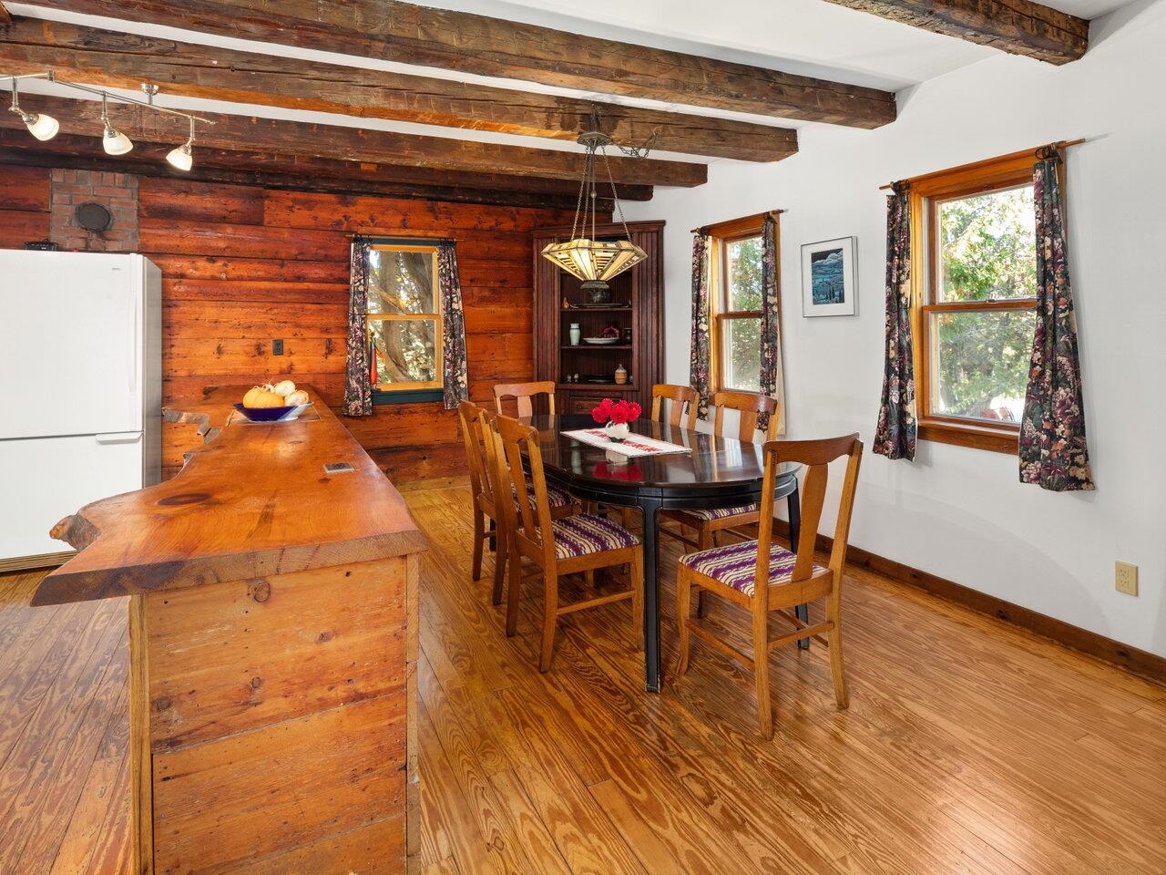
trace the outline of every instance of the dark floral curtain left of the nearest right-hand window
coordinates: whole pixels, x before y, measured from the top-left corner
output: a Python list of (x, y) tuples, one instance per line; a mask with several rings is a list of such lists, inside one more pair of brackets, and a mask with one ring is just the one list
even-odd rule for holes
[(874, 452), (915, 457), (915, 374), (911, 338), (911, 194), (895, 183), (886, 198), (886, 354)]

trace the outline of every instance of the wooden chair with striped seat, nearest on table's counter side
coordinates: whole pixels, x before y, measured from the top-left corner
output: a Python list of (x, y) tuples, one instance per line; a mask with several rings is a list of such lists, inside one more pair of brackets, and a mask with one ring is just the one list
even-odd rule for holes
[[(496, 416), (496, 470), (501, 482), (510, 477), (521, 495), (529, 489), (534, 502), (507, 504), (505, 528), (510, 538), (510, 582), (506, 593), (506, 635), (518, 628), (518, 604), (525, 581), (542, 578), (542, 646), (539, 671), (548, 671), (554, 652), (559, 617), (577, 610), (630, 600), (632, 636), (637, 646), (644, 640), (644, 547), (639, 538), (605, 517), (578, 513), (554, 519), (547, 495), (547, 481), (539, 449), (539, 432), (510, 416)], [(529, 474), (524, 466), (524, 456)], [(522, 559), (532, 570), (522, 573)], [(560, 606), (559, 580), (578, 572), (630, 565), (630, 589)]]

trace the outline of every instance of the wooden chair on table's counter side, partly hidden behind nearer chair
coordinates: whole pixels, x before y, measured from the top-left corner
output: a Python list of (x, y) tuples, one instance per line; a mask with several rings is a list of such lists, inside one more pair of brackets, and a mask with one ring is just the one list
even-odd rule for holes
[[(494, 584), (491, 602), (501, 604), (503, 581), (506, 569), (506, 540), (498, 531), (504, 519), (498, 511), (497, 475), (491, 470), (491, 448), (486, 441), (489, 421), (497, 414), (484, 407), (479, 407), (470, 401), (458, 401), (457, 418), (462, 426), (462, 440), (465, 443), (465, 455), (470, 468), (470, 499), (473, 505), (473, 560), (471, 574), (473, 580), (482, 579), (482, 555), (486, 541), (490, 541), (494, 551)], [(508, 482), (507, 482), (508, 483)], [(514, 496), (512, 496), (513, 503)], [(564, 517), (580, 510), (580, 505), (571, 498), (570, 494), (557, 487), (548, 488), (547, 499), (550, 504), (553, 517)], [(486, 528), (486, 520), (490, 520), (490, 528)], [(499, 542), (503, 550), (498, 548)]]

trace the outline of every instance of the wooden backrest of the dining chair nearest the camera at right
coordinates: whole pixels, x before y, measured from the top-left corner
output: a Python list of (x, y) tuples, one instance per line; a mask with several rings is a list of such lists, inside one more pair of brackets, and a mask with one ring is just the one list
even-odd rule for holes
[[(785, 462), (805, 466), (806, 475), (799, 487), (801, 498), (801, 524), (792, 583), (807, 580), (814, 568), (814, 548), (817, 528), (826, 504), (826, 488), (830, 476), (830, 462), (848, 456), (847, 474), (838, 499), (838, 519), (835, 526), (834, 546), (830, 552), (830, 569), (841, 575), (847, 555), (847, 539), (850, 534), (850, 517), (854, 512), (855, 489), (858, 483), (858, 466), (862, 461), (863, 442), (858, 434), (843, 438), (827, 438), (817, 441), (767, 441), (765, 444), (765, 481), (761, 494), (761, 513), (758, 522), (758, 562), (754, 584), (758, 593), (768, 586), (768, 550), (773, 542), (773, 504), (777, 488), (777, 471)], [(837, 578), (841, 580), (841, 576)], [(837, 587), (836, 587), (837, 589)]]

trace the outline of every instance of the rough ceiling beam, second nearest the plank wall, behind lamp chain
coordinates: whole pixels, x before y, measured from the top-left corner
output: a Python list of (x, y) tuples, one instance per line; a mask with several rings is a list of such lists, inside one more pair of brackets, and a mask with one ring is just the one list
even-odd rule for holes
[[(69, 100), (22, 93), (21, 104), (47, 112), (61, 123), (61, 132), (96, 136), (100, 133), (101, 105), (96, 100)], [(490, 173), (578, 181), (583, 175), (582, 150), (532, 149), (441, 136), (416, 136), (393, 131), (372, 131), (338, 125), (314, 125), (223, 113), (199, 113), (215, 121), (199, 125), (198, 144), (223, 149), (257, 149), (288, 155), (337, 159), (435, 170)], [(112, 104), (113, 125), (132, 140), (181, 142), (187, 136), (183, 119), (133, 105)], [(0, 127), (19, 127), (13, 113), (0, 113)], [(100, 145), (94, 141), (94, 148)], [(196, 159), (197, 160), (197, 159)], [(616, 182), (642, 186), (702, 184), (708, 167), (681, 161), (612, 158)]]

